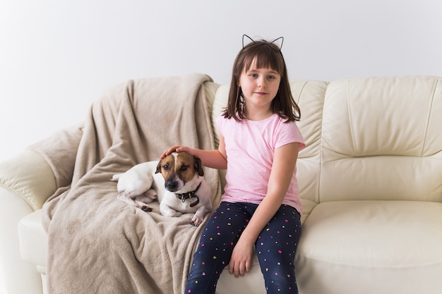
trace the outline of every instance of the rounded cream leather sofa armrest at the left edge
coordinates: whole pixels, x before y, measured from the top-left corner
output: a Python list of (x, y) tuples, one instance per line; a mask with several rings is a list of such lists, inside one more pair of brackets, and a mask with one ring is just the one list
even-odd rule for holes
[(0, 267), (8, 294), (42, 288), (35, 265), (20, 257), (18, 222), (40, 209), (55, 190), (54, 173), (37, 152), (25, 150), (0, 163)]

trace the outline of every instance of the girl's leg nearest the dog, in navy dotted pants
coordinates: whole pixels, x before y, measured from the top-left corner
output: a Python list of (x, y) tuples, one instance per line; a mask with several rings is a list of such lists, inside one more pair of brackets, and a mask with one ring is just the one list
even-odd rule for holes
[(218, 278), (250, 219), (243, 207), (244, 204), (222, 202), (210, 216), (193, 255), (185, 294), (215, 293)]

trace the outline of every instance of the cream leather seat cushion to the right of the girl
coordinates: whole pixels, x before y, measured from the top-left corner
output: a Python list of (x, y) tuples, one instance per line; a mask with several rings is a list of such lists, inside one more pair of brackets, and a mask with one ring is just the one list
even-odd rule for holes
[(439, 293), (441, 223), (442, 203), (436, 202), (318, 204), (304, 222), (295, 257), (299, 290)]

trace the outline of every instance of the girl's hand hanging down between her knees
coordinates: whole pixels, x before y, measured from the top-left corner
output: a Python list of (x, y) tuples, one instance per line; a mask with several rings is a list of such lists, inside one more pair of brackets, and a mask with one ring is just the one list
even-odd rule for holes
[(229, 262), (229, 273), (233, 274), (235, 278), (248, 273), (251, 267), (252, 254), (253, 244), (246, 244), (241, 242), (240, 239), (233, 248), (232, 257)]

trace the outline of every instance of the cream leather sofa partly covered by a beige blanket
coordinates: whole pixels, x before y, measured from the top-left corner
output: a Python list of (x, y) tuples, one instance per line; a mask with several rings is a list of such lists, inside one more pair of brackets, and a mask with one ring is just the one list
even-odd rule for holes
[[(214, 126), (229, 85), (203, 87)], [(291, 87), (306, 140), (297, 161), (299, 293), (441, 293), (442, 78), (292, 80)], [(213, 135), (216, 144), (216, 128)], [(8, 294), (47, 293), (42, 205), (57, 188), (52, 167), (32, 149), (0, 164)], [(254, 257), (242, 278), (223, 271), (217, 293), (265, 293), (263, 285)]]

